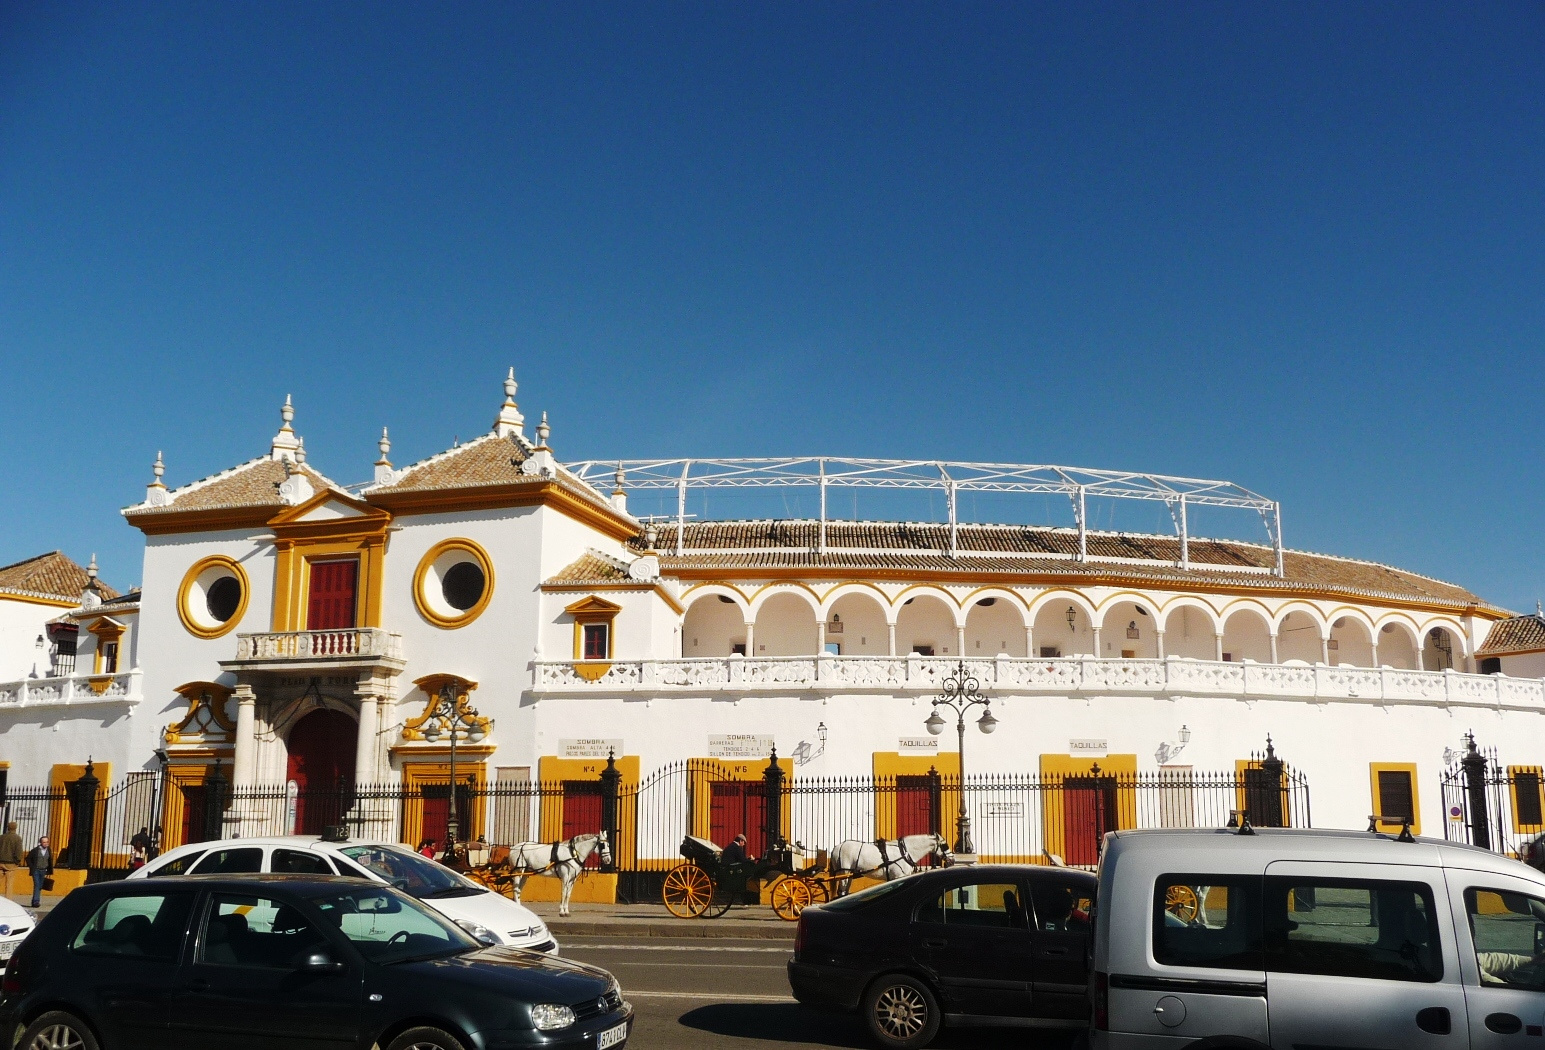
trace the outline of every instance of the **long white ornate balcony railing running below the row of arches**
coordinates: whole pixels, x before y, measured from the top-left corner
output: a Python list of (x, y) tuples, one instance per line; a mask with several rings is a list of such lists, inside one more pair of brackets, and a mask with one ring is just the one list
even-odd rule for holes
[[(538, 661), (536, 692), (734, 693), (751, 690), (932, 693), (959, 661), (942, 656), (728, 656), (613, 661), (595, 681), (569, 661)], [(1207, 659), (967, 659), (983, 689), (1000, 693), (1194, 693), (1293, 699), (1366, 699), (1545, 707), (1545, 681), (1503, 675), (1324, 664)]]

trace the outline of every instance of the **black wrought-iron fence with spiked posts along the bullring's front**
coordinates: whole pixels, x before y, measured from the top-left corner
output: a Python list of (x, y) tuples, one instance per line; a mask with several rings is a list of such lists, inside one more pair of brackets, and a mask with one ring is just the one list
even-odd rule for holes
[[(1516, 780), (1516, 778), (1514, 778)], [(1539, 780), (1536, 777), (1536, 797)], [(443, 848), (448, 817), (468, 838), (496, 845), (559, 842), (606, 831), (621, 900), (658, 900), (686, 835), (725, 845), (739, 834), (752, 854), (783, 845), (814, 852), (844, 840), (939, 835), (956, 846), (964, 803), (981, 860), (1094, 866), (1108, 831), (1310, 826), (1309, 783), (1272, 750), (1228, 772), (1111, 772), (1091, 761), (1065, 774), (796, 777), (776, 754), (762, 761), (691, 760), (626, 781), (613, 760), (576, 780), (409, 778), (388, 784), (233, 786), (215, 766), (199, 783), (154, 772), (117, 784), (87, 775), (51, 788), (6, 788), (6, 820), (25, 840), (51, 834), (62, 866), (93, 879), (127, 874), (133, 842), (158, 849), (215, 838), (323, 834), (425, 842)], [(1537, 818), (1537, 812), (1534, 814)], [(592, 860), (599, 865), (599, 857)]]

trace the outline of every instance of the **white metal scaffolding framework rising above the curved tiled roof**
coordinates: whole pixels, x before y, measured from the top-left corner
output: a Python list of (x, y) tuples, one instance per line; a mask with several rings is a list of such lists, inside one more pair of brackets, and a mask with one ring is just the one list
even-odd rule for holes
[(1088, 561), (1088, 500), (1157, 500), (1170, 508), (1180, 539), (1180, 567), (1190, 568), (1190, 506), (1225, 506), (1261, 514), (1282, 574), (1282, 506), (1233, 482), (1171, 477), (1131, 471), (1026, 463), (955, 463), (946, 460), (881, 460), (828, 456), (788, 459), (666, 459), (584, 460), (564, 468), (603, 494), (612, 488), (675, 489), (677, 554), (683, 553), (686, 499), (691, 489), (816, 488), (820, 493), (817, 551), (827, 553), (827, 491), (833, 488), (921, 489), (944, 493), (949, 506), (950, 557), (958, 554), (958, 497), (961, 493), (1021, 493), (1065, 496), (1078, 530), (1078, 561)]

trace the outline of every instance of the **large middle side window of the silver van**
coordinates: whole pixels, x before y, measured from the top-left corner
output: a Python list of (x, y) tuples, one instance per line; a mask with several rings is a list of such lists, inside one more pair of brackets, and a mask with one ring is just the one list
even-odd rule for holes
[(1265, 880), (1267, 970), (1440, 981), (1432, 888), (1375, 879)]

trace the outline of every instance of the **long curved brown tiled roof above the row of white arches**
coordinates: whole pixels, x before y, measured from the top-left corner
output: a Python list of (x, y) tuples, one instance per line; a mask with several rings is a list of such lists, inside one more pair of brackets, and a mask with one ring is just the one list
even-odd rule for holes
[[(1089, 561), (1074, 561), (1077, 531), (1031, 525), (961, 525), (955, 557), (949, 527), (910, 522), (828, 522), (827, 553), (817, 554), (819, 523), (806, 520), (688, 522), (683, 554), (675, 554), (675, 523), (657, 527), (655, 550), (663, 574), (691, 570), (891, 570), (959, 576), (1132, 578), (1179, 585), (1230, 585), (1273, 590), (1323, 590), (1355, 598), (1486, 605), (1479, 596), (1443, 581), (1377, 562), (1285, 551), (1284, 576), (1270, 574), (1273, 551), (1259, 544), (1193, 539), (1191, 568), (1182, 570), (1180, 540), (1173, 536), (1088, 533)], [(1204, 568), (1205, 567), (1205, 568)]]

